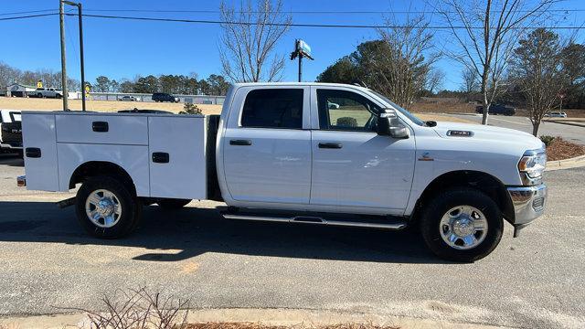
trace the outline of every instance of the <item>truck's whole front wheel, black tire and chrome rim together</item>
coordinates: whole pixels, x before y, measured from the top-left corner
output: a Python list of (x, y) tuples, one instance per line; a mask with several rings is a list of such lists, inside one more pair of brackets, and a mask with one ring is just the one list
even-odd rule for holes
[(483, 259), (498, 245), (503, 230), (504, 220), (494, 200), (466, 187), (435, 196), (420, 218), (422, 238), (445, 260)]

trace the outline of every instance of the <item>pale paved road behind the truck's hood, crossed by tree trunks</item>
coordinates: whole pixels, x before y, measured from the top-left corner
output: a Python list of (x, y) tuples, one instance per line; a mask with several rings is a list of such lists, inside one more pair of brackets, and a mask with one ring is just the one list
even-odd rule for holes
[[(466, 119), (481, 123), (480, 114), (446, 114), (451, 117)], [(516, 129), (526, 133), (532, 133), (532, 123), (527, 117), (490, 115), (487, 123), (498, 127)], [(561, 136), (569, 142), (585, 145), (585, 128), (555, 122), (542, 122), (538, 129), (538, 135)]]

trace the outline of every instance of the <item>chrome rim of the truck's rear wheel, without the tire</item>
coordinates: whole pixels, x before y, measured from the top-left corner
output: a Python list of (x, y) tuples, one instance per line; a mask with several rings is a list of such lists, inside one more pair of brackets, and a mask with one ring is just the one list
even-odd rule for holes
[(122, 216), (122, 205), (117, 196), (106, 189), (90, 193), (85, 201), (85, 213), (99, 228), (112, 228)]

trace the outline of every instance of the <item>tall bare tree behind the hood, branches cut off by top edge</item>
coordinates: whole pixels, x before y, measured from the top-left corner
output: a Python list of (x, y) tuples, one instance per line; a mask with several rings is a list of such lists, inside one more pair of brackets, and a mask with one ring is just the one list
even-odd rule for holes
[(452, 58), (473, 69), (480, 82), (487, 124), (490, 105), (502, 90), (507, 64), (525, 25), (532, 25), (558, 0), (442, 0), (438, 8), (461, 52)]

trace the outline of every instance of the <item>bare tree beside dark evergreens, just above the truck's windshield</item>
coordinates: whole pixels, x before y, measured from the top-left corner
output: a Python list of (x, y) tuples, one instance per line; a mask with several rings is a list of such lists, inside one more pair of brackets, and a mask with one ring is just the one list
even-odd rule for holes
[(369, 70), (378, 89), (400, 106), (408, 106), (418, 91), (424, 89), (431, 65), (439, 58), (431, 54), (432, 34), (424, 16), (407, 16), (405, 23), (396, 26), (395, 19), (386, 19), (386, 27), (378, 28), (383, 43), (378, 58), (365, 68)]

